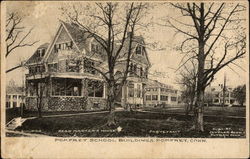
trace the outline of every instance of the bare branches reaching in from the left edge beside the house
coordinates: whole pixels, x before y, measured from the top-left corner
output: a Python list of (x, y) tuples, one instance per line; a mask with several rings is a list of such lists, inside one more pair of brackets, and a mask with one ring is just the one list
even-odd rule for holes
[[(10, 12), (7, 14), (6, 18), (6, 54), (7, 58), (14, 50), (22, 47), (33, 46), (38, 41), (29, 42), (27, 39), (30, 37), (30, 34), (33, 28), (26, 31), (26, 27), (23, 26), (23, 17), (21, 17), (18, 12)], [(23, 63), (10, 68), (6, 73), (11, 72), (19, 67), (22, 67)]]

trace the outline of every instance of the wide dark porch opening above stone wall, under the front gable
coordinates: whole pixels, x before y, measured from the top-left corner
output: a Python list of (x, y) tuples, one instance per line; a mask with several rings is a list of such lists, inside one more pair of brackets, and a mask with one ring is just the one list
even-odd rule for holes
[(80, 79), (52, 79), (53, 96), (81, 96), (81, 88)]

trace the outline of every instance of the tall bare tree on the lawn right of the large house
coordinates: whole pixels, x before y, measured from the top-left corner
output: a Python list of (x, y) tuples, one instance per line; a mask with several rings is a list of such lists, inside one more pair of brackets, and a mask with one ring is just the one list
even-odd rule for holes
[(205, 88), (215, 74), (246, 53), (244, 4), (235, 3), (171, 3), (180, 11), (179, 18), (169, 17), (164, 26), (180, 33), (183, 41), (179, 50), (185, 60), (198, 63), (196, 89), (196, 122), (194, 128), (204, 131), (203, 111)]

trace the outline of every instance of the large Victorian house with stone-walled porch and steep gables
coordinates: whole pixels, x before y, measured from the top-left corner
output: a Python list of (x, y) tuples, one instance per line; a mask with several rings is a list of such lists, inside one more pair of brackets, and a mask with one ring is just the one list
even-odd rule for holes
[[(119, 44), (117, 44), (119, 45)], [(125, 41), (116, 73), (125, 69), (128, 52)], [(53, 41), (43, 44), (26, 65), (26, 108), (36, 109), (38, 100), (46, 111), (105, 109), (106, 83), (95, 66), (107, 68), (106, 53), (89, 33), (76, 25), (61, 22)], [(132, 43), (130, 72), (126, 84), (116, 97), (121, 106), (143, 105), (143, 90), (150, 62), (144, 40), (136, 36)]]

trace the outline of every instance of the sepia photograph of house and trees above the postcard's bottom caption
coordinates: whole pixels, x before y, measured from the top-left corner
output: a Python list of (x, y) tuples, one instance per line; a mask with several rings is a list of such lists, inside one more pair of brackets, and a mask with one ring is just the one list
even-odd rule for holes
[(4, 6), (6, 138), (248, 138), (246, 1)]

